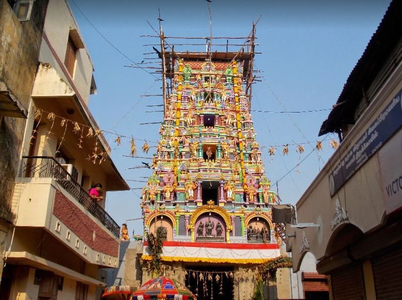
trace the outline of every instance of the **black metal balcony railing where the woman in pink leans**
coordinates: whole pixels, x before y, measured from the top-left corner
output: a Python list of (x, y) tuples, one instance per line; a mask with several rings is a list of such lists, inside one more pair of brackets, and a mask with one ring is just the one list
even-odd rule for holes
[(99, 220), (116, 238), (120, 235), (120, 227), (115, 220), (92, 198), (82, 186), (51, 156), (23, 156), (21, 177), (53, 178), (87, 211)]

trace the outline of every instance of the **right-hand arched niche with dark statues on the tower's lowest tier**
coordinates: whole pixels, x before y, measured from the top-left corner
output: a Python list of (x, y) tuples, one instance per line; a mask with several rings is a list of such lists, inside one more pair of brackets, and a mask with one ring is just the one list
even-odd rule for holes
[(261, 216), (248, 219), (246, 223), (246, 238), (248, 242), (269, 243), (272, 240), (272, 230), (270, 222)]

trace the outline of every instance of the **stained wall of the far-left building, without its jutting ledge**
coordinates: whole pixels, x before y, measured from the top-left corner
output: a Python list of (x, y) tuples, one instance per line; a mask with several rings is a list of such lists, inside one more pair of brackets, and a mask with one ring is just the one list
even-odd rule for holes
[[(37, 69), (48, 0), (36, 1), (29, 21), (20, 22), (6, 0), (0, 0), (0, 90), (8, 90), (28, 110)], [(25, 119), (0, 113), (0, 217), (9, 220), (9, 202)]]

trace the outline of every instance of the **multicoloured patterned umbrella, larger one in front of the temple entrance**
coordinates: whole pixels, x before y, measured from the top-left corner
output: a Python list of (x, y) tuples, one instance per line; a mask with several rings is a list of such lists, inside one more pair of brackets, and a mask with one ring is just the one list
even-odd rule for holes
[(183, 284), (175, 279), (159, 276), (143, 284), (131, 300), (196, 300)]

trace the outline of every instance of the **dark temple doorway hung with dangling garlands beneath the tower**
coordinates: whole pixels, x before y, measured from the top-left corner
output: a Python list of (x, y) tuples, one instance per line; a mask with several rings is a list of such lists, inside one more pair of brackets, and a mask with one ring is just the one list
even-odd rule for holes
[[(197, 300), (233, 300), (234, 281), (233, 267), (209, 266), (186, 266), (186, 287), (197, 296)], [(191, 271), (188, 271), (191, 270)], [(226, 275), (226, 273), (228, 275)], [(210, 276), (208, 276), (210, 275)], [(218, 280), (217, 280), (218, 275)], [(210, 277), (210, 279), (208, 279)], [(202, 279), (202, 280), (201, 280)], [(222, 294), (220, 294), (222, 293)]]

